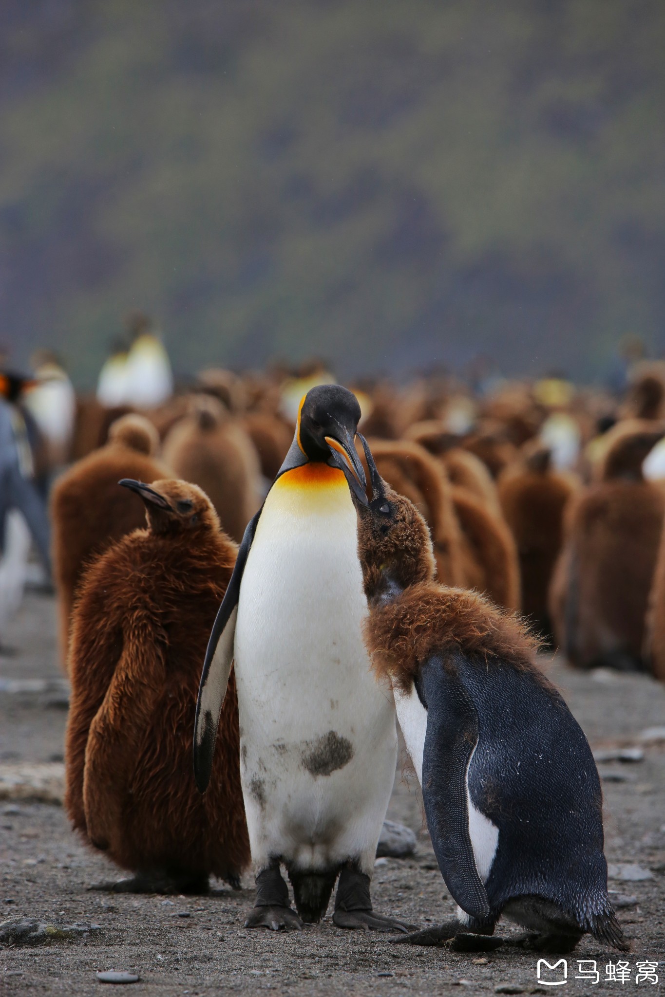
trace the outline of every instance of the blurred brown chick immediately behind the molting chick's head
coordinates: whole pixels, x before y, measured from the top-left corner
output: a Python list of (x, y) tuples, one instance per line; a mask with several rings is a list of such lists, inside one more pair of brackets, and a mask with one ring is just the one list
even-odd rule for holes
[(419, 444), (407, 440), (373, 440), (372, 453), (379, 473), (427, 519), (441, 581), (465, 585), (462, 532), (450, 483), (439, 462)]

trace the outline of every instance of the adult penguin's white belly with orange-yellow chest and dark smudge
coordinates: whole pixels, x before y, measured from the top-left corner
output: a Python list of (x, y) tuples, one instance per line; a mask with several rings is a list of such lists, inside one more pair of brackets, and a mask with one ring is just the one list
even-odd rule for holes
[(374, 866), (397, 736), (392, 692), (376, 682), (362, 640), (356, 534), (344, 476), (307, 466), (273, 486), (249, 551), (234, 656), (258, 866), (271, 857), (296, 868)]

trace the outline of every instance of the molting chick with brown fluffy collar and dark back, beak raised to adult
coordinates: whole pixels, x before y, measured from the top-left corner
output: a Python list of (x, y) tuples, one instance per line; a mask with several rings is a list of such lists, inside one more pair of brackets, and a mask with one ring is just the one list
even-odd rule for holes
[(517, 619), (432, 580), (420, 513), (366, 454), (370, 502), (347, 474), (370, 606), (365, 639), (395, 691), (432, 843), (460, 906), (452, 923), (408, 940), (492, 934), (504, 914), (535, 931), (527, 942), (541, 950), (569, 951), (585, 931), (625, 949), (586, 738)]

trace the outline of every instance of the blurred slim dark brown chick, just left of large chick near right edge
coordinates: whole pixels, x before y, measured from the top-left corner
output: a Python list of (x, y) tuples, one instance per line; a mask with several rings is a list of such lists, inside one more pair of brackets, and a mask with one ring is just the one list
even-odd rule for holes
[(563, 509), (575, 491), (569, 475), (552, 470), (550, 451), (542, 445), (499, 478), (503, 517), (517, 545), (521, 611), (543, 637), (551, 633), (547, 594), (563, 540)]

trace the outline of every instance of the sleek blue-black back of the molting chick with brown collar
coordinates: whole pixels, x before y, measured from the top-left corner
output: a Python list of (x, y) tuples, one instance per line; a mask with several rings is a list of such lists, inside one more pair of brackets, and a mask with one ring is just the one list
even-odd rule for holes
[[(586, 738), (556, 689), (534, 669), (462, 650), (435, 652), (416, 688), (428, 710), (436, 698), (440, 720), (451, 714), (452, 728), (466, 715), (465, 736), (472, 731), (476, 738), (469, 793), (499, 829), (485, 882), (490, 916), (497, 919), (511, 899), (537, 896), (602, 934), (612, 908), (600, 781)], [(446, 764), (444, 757), (431, 763)], [(426, 810), (429, 824), (436, 806)]]

